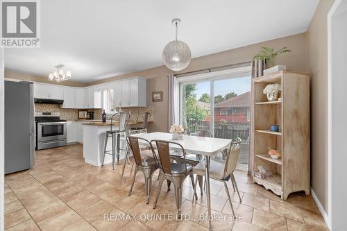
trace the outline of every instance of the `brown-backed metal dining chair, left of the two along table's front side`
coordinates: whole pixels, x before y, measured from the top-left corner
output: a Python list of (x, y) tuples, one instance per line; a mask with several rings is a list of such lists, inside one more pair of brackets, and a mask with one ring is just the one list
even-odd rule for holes
[(134, 159), (135, 159), (135, 170), (134, 170), (134, 176), (133, 176), (133, 183), (131, 184), (129, 196), (131, 196), (131, 192), (133, 191), (136, 173), (138, 171), (142, 171), (144, 173), (144, 187), (146, 190), (146, 196), (147, 196), (147, 204), (149, 203), (149, 194), (151, 193), (151, 185), (152, 185), (152, 176), (155, 170), (158, 169), (158, 160), (155, 156), (155, 153), (152, 151), (152, 157), (143, 156), (142, 152), (140, 151), (139, 147), (139, 140), (142, 142), (146, 142), (151, 145), (150, 142), (146, 139), (142, 139), (139, 137), (126, 137), (126, 140), (128, 142), (128, 145), (133, 151)]

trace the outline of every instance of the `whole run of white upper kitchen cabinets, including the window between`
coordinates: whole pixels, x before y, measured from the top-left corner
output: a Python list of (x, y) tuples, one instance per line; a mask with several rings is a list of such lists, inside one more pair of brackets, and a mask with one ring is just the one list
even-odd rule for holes
[(39, 99), (63, 99), (61, 108), (115, 110), (124, 107), (146, 106), (146, 79), (136, 77), (107, 85), (92, 87), (61, 87), (35, 83), (34, 97)]

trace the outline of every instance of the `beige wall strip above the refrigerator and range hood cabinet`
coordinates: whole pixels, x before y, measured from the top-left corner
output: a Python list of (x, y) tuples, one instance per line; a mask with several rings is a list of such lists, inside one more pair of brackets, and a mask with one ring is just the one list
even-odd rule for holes
[(78, 83), (74, 81), (64, 81), (62, 83), (52, 82), (48, 80), (48, 77), (44, 76), (35, 76), (33, 74), (26, 74), (19, 71), (12, 71), (5, 69), (5, 78), (12, 78), (12, 79), (18, 79), (18, 80), (28, 80), (33, 82), (40, 82), (40, 83), (50, 83), (50, 84), (56, 84), (56, 85), (65, 85), (70, 87), (85, 87), (85, 83)]

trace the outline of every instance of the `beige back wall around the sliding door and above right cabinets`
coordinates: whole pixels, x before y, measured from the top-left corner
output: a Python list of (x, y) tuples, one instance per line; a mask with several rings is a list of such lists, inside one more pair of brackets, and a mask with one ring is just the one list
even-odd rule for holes
[[(278, 63), (287, 65), (288, 69), (292, 70), (305, 70), (305, 33), (291, 35), (289, 37), (282, 37), (276, 40), (269, 40), (259, 44), (250, 46), (243, 46), (237, 49), (205, 55), (199, 58), (192, 59), (186, 71), (194, 71), (205, 69), (209, 67), (219, 67), (223, 65), (230, 65), (239, 62), (250, 62), (256, 53), (260, 51), (262, 46), (271, 46), (275, 49), (280, 49), (282, 46), (288, 46), (292, 53), (278, 57)], [(95, 85), (99, 83), (106, 83), (112, 80), (119, 80), (122, 78), (130, 78), (133, 76), (142, 76), (148, 78), (147, 81), (147, 102), (149, 106), (154, 107), (154, 123), (151, 124), (150, 130), (167, 131), (168, 123), (168, 101), (167, 101), (167, 75), (171, 73), (169, 69), (164, 66), (146, 69), (144, 71), (137, 71), (132, 74), (107, 78), (99, 80), (88, 85)], [(160, 103), (152, 103), (151, 92), (163, 91), (163, 101)]]

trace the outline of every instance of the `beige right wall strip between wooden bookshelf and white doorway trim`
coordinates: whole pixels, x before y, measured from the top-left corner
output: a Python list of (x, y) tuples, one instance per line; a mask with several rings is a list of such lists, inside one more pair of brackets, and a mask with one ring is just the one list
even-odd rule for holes
[(328, 212), (328, 25), (333, 0), (321, 0), (305, 34), (311, 78), (311, 186)]

